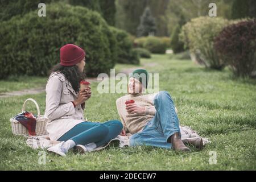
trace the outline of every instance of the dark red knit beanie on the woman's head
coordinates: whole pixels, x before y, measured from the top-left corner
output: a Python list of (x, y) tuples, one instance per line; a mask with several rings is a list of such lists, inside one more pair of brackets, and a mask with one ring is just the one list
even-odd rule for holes
[(74, 45), (66, 44), (60, 48), (60, 64), (63, 66), (73, 66), (85, 57), (85, 51)]

